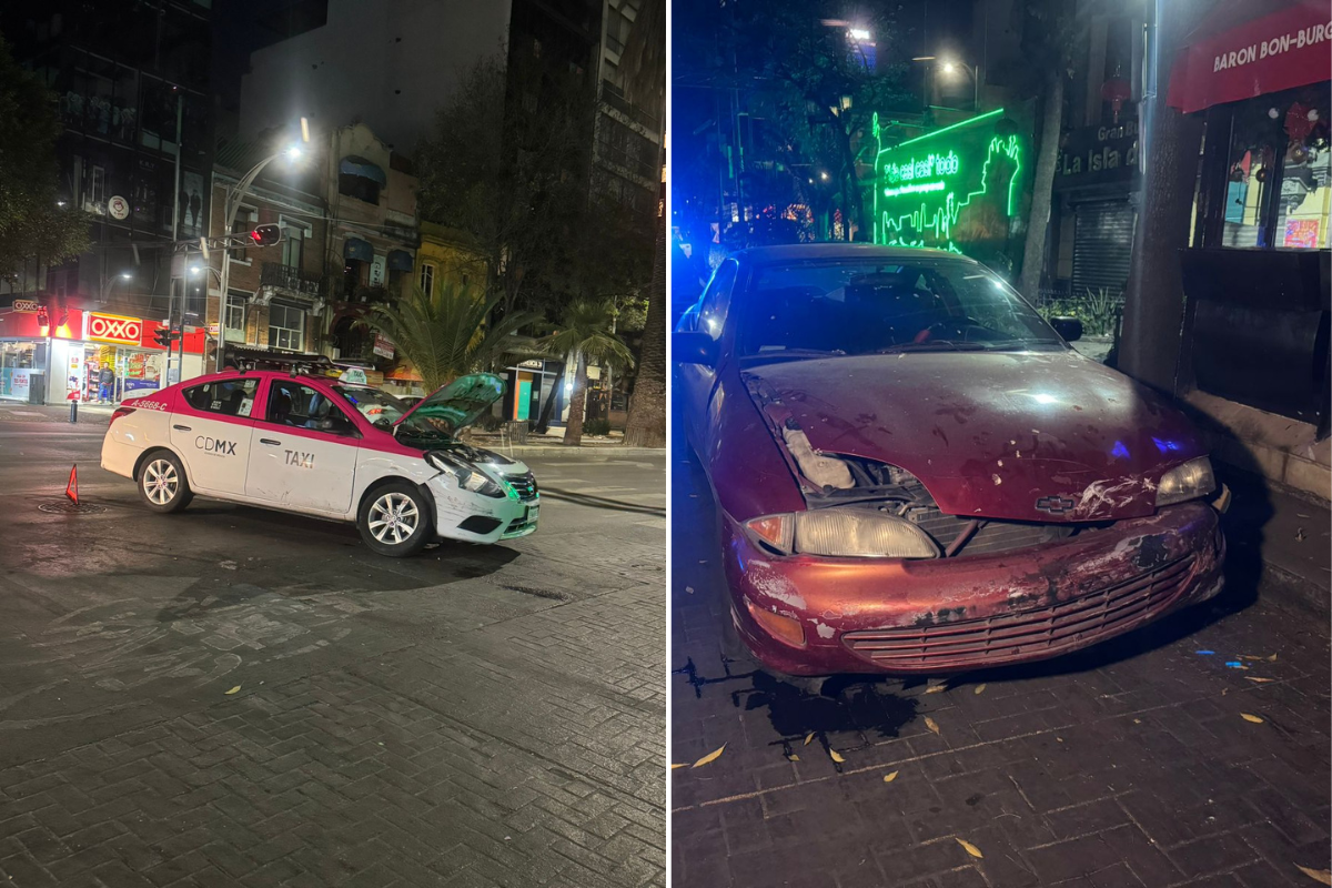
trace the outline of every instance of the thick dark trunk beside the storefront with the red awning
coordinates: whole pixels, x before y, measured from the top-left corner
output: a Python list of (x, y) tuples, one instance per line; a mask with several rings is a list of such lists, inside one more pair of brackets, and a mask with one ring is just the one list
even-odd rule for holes
[[(1173, 59), (1180, 44), (1208, 8), (1204, 0), (1163, 4), (1159, 23), (1160, 57)], [(1169, 68), (1151, 109), (1142, 204), (1134, 232), (1134, 257), (1124, 294), (1124, 326), (1118, 366), (1162, 391), (1173, 393), (1184, 320), (1184, 282), (1179, 250), (1188, 246), (1193, 186), (1197, 181), (1201, 116), (1184, 116), (1166, 105)]]

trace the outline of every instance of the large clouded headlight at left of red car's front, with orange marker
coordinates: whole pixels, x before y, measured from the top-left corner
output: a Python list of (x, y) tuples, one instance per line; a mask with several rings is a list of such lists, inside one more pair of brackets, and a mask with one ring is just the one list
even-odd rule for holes
[(863, 509), (818, 509), (765, 515), (745, 525), (783, 555), (839, 558), (938, 558), (939, 547), (908, 521)]

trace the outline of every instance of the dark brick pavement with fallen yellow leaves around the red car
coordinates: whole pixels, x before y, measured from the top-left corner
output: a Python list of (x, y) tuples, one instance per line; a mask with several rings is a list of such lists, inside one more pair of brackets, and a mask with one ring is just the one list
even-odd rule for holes
[(682, 453), (671, 759), (725, 750), (671, 771), (674, 884), (1271, 888), (1328, 868), (1328, 616), (1257, 564), (1080, 655), (817, 695), (723, 659), (713, 502)]

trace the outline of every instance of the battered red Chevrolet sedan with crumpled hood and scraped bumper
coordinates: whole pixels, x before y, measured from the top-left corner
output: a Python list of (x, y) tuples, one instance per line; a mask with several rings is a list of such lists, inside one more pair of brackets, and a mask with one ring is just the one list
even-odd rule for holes
[(766, 667), (1038, 660), (1220, 591), (1228, 494), (1199, 434), (1058, 324), (935, 250), (722, 262), (677, 328), (675, 397)]

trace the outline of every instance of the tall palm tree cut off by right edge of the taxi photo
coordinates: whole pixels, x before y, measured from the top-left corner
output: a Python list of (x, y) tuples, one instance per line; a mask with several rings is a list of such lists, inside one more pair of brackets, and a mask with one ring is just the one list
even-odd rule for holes
[[(629, 32), (621, 61), (630, 101), (666, 93), (666, 0), (645, 0)], [(665, 111), (663, 111), (665, 116)], [(665, 158), (662, 158), (665, 164)], [(639, 347), (638, 378), (625, 422), (626, 447), (666, 446), (666, 206), (657, 210), (647, 324)]]

